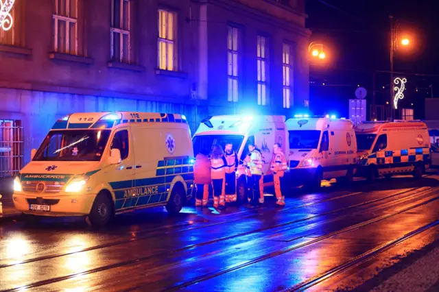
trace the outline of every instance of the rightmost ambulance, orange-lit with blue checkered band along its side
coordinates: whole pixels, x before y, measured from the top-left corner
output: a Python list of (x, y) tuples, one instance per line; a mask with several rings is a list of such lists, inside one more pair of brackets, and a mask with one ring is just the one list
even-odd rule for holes
[(368, 122), (355, 127), (358, 175), (369, 180), (396, 173), (421, 178), (431, 163), (427, 125), (420, 121)]

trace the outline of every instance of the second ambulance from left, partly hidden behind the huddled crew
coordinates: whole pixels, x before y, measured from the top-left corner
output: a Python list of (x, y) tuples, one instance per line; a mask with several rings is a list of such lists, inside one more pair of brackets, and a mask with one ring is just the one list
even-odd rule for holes
[[(243, 200), (246, 188), (246, 168), (244, 159), (248, 155), (248, 145), (253, 143), (261, 151), (263, 160), (264, 185), (272, 185), (273, 174), (270, 170), (274, 143), (281, 144), (281, 149), (289, 149), (287, 127), (284, 116), (239, 116), (224, 115), (204, 119), (192, 139), (194, 154), (201, 149), (211, 150), (213, 145), (232, 143), (237, 153), (239, 167), (237, 169), (237, 195)], [(288, 159), (288, 156), (286, 156)], [(242, 201), (241, 201), (242, 202)]]

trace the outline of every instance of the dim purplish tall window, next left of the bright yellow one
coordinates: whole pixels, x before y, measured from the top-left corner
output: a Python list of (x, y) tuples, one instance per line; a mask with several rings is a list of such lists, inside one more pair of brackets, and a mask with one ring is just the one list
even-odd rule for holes
[(130, 1), (111, 3), (111, 60), (130, 62)]

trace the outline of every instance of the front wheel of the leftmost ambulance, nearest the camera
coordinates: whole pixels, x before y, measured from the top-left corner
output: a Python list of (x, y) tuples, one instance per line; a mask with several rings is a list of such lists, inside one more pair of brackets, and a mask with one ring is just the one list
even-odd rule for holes
[(106, 226), (114, 215), (113, 206), (114, 203), (109, 194), (99, 193), (93, 202), (90, 215), (88, 215), (91, 226)]

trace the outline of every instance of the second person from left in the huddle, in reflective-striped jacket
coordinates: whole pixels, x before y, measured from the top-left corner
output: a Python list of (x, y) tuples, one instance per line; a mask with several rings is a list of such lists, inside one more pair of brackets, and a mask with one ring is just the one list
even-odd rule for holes
[(213, 187), (213, 207), (226, 206), (224, 197), (224, 181), (226, 180), (226, 158), (222, 147), (215, 145), (211, 155), (211, 178)]

